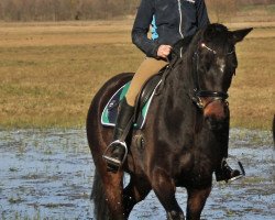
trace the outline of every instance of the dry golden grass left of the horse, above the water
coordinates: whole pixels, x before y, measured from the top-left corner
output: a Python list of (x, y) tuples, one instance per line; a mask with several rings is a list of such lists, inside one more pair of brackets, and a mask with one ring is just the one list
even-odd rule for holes
[(123, 29), (108, 22), (0, 28), (1, 125), (82, 127), (103, 81), (142, 59)]

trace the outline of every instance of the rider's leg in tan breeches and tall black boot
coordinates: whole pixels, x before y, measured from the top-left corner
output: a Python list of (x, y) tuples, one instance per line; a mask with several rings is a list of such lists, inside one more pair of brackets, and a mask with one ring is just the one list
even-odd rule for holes
[(103, 155), (109, 170), (116, 173), (122, 165), (125, 154), (125, 145), (123, 145), (124, 140), (122, 140), (123, 142), (120, 142), (119, 140), (124, 133), (127, 125), (130, 123), (130, 120), (133, 118), (135, 99), (142, 86), (148, 78), (157, 74), (168, 63), (163, 59), (146, 57), (135, 73), (125, 98), (122, 99), (119, 107), (120, 110), (113, 132), (113, 142), (109, 146), (110, 151)]

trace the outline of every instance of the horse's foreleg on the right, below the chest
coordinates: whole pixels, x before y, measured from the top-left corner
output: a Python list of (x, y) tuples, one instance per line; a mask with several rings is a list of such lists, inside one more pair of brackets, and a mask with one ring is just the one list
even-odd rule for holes
[(187, 189), (187, 220), (199, 220), (206, 200), (211, 191), (211, 186), (205, 189)]

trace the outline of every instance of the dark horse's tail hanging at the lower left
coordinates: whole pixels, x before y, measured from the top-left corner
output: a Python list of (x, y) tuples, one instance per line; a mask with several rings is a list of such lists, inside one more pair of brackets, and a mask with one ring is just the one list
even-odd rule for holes
[(109, 220), (109, 209), (106, 202), (105, 189), (98, 170), (95, 170), (90, 198), (94, 200), (94, 215), (97, 220)]

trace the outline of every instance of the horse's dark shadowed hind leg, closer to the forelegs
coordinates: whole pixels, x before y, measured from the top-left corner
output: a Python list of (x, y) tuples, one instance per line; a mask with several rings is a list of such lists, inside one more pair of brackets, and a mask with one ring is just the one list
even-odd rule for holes
[(123, 190), (123, 204), (127, 217), (129, 217), (134, 205), (143, 200), (151, 189), (151, 185), (146, 179), (134, 175), (131, 176), (129, 185)]

